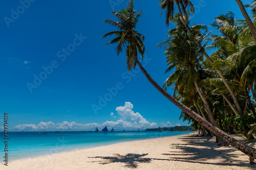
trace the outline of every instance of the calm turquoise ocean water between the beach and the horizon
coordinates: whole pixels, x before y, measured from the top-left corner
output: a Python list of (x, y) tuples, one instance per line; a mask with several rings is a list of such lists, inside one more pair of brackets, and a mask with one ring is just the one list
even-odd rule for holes
[[(9, 132), (9, 161), (87, 149), (114, 143), (187, 134), (187, 131), (163, 132)], [(0, 134), (0, 156), (4, 156), (4, 135)]]

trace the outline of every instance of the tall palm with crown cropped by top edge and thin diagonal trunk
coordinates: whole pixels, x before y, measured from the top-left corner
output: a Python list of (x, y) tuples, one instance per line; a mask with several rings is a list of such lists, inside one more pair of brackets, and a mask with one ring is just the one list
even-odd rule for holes
[[(191, 36), (195, 37), (193, 31), (191, 31), (191, 29), (188, 27), (188, 23), (185, 20), (186, 15), (188, 15), (187, 12), (186, 12), (186, 8), (190, 9), (191, 13), (194, 13), (194, 7), (191, 4), (190, 0), (162, 0), (160, 2), (160, 4), (161, 4), (161, 8), (163, 10), (166, 9), (166, 17), (168, 17), (168, 18), (166, 18), (166, 22), (167, 22), (167, 20), (169, 21), (173, 18), (173, 13), (174, 13), (174, 7), (173, 6), (174, 6), (174, 4), (176, 4), (176, 6), (178, 7), (178, 10), (179, 10), (180, 18), (182, 20), (183, 25), (185, 26), (185, 28), (187, 29), (189, 34)], [(197, 39), (195, 39), (195, 41), (198, 44), (199, 48), (202, 50), (204, 56), (209, 61), (209, 63), (211, 65), (214, 64), (214, 62), (211, 60), (209, 55), (205, 52), (205, 50), (204, 50), (203, 46), (201, 45), (200, 41), (198, 41)], [(242, 114), (242, 110), (241, 110), (241, 107), (239, 105), (237, 96), (236, 96), (236, 94), (234, 94), (230, 84), (228, 83), (228, 81), (226, 80), (226, 78), (224, 77), (223, 73), (220, 70), (216, 69), (216, 71), (217, 71), (218, 75), (220, 76), (220, 78), (222, 79), (225, 86), (227, 87), (229, 93), (231, 94), (233, 102), (236, 105), (236, 108), (237, 108), (239, 114)]]

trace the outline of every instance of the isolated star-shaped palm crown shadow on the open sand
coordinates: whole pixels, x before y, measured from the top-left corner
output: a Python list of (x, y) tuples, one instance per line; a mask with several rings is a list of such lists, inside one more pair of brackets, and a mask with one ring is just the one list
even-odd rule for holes
[(88, 158), (101, 158), (103, 161), (99, 161), (100, 164), (109, 164), (114, 162), (122, 162), (125, 163), (124, 166), (136, 168), (138, 167), (138, 163), (149, 163), (151, 158), (142, 158), (148, 154), (114, 154), (115, 156), (96, 156), (96, 157), (88, 157)]

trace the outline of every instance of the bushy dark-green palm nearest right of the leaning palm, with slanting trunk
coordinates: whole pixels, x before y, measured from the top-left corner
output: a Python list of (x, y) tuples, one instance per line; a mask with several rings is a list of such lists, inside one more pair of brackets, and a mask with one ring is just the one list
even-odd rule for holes
[[(179, 18), (179, 14), (176, 14), (176, 18)], [(177, 20), (179, 19), (175, 19), (175, 21)], [(200, 34), (200, 31), (198, 30), (199, 28), (206, 29), (206, 27), (197, 25), (193, 26), (191, 29), (194, 30), (194, 32), (198, 32), (197, 34)], [(173, 32), (174, 35), (170, 36), (170, 32)], [(170, 86), (174, 83), (176, 84), (175, 86), (179, 86), (179, 83), (182, 82), (186, 84), (188, 92), (196, 88), (204, 103), (210, 123), (216, 126), (216, 122), (214, 116), (212, 116), (209, 104), (198, 84), (199, 69), (201, 69), (203, 54), (195, 43), (194, 37), (190, 37), (188, 34), (186, 34), (186, 32), (180, 33), (172, 30), (169, 31), (168, 36), (169, 40), (160, 43), (158, 46), (163, 46), (165, 48), (165, 55), (167, 55), (166, 62), (168, 63), (166, 72), (172, 70), (173, 68), (175, 68), (175, 71), (165, 81), (164, 86)]]

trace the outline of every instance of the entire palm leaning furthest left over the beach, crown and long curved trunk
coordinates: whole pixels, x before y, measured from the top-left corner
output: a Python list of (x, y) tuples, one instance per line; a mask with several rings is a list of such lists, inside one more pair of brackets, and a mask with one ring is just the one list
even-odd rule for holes
[[(196, 112), (189, 109), (188, 107), (186, 107), (185, 105), (183, 105), (182, 103), (177, 101), (176, 99), (174, 99), (173, 96), (170, 95), (169, 93), (167, 93), (163, 88), (161, 88), (151, 78), (151, 76), (146, 72), (146, 70), (142, 67), (141, 63), (139, 62), (139, 60), (137, 58), (137, 51), (139, 51), (140, 54), (144, 53), (144, 51), (141, 50), (141, 49), (144, 49), (143, 41), (142, 41), (142, 39), (138, 39), (138, 38), (136, 39), (136, 35), (138, 35), (138, 34), (132, 34), (133, 31), (135, 31), (133, 29), (135, 28), (136, 23), (138, 22), (138, 17), (137, 17), (138, 13), (137, 13), (137, 11), (134, 10), (134, 1), (133, 0), (129, 1), (128, 6), (124, 10), (121, 10), (120, 12), (113, 12), (112, 14), (114, 14), (120, 22), (116, 22), (116, 21), (112, 21), (112, 20), (105, 20), (105, 22), (110, 23), (114, 27), (117, 27), (118, 30), (121, 32), (119, 32), (117, 34), (115, 32), (112, 32), (112, 33), (108, 33), (108, 35), (116, 35), (117, 38), (120, 37), (119, 39), (116, 39), (116, 38), (113, 39), (114, 41), (111, 41), (111, 42), (126, 45), (125, 46), (126, 47), (126, 59), (127, 60), (133, 59), (132, 60), (134, 63), (133, 66), (135, 67), (136, 64), (138, 64), (141, 71), (146, 76), (147, 80), (150, 81), (150, 83), (159, 92), (161, 92), (170, 102), (172, 102), (177, 107), (182, 109), (185, 113), (187, 113), (189, 116), (194, 118), (198, 123), (200, 123), (204, 127), (207, 127), (207, 129), (210, 132), (212, 132), (216, 136), (221, 137), (224, 141), (226, 141), (227, 143), (231, 144), (233, 147), (239, 149), (240, 151), (242, 151), (243, 153), (248, 155), (250, 157), (251, 161), (253, 161), (253, 159), (256, 159), (256, 149), (248, 147), (247, 145), (243, 144), (242, 142), (239, 142), (238, 140), (232, 138), (227, 133), (223, 132), (222, 130), (220, 130), (217, 127), (210, 124), (207, 120), (205, 120), (203, 117), (198, 115)], [(141, 15), (141, 13), (139, 13), (139, 14)], [(127, 33), (130, 33), (129, 36), (126, 36)], [(136, 31), (136, 33), (137, 33), (137, 31)], [(106, 37), (106, 35), (104, 35), (102, 38), (104, 38), (104, 37)], [(128, 42), (128, 40), (129, 40), (129, 42)], [(127, 44), (129, 44), (129, 45), (127, 45)], [(128, 50), (127, 50), (127, 48), (128, 48)], [(117, 54), (119, 54), (121, 52), (121, 50), (122, 50), (122, 47), (117, 47), (116, 48)], [(130, 67), (130, 62), (127, 63), (127, 67), (128, 68)]]

